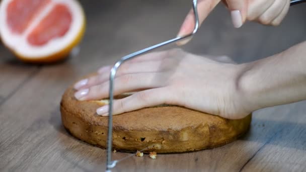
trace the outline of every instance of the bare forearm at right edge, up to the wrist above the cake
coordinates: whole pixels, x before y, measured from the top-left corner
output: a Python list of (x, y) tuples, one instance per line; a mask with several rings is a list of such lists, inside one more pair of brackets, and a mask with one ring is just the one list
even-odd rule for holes
[(306, 42), (242, 65), (238, 89), (253, 109), (306, 100)]

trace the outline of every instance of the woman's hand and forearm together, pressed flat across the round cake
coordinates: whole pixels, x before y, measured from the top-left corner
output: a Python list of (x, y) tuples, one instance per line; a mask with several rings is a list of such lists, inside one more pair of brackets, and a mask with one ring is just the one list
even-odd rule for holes
[[(244, 64), (179, 49), (148, 53), (119, 68), (114, 95), (137, 92), (115, 100), (114, 115), (169, 104), (240, 119), (258, 109), (306, 100), (305, 47), (302, 42)], [(81, 101), (107, 98), (110, 69), (102, 67), (100, 74), (77, 82), (75, 97)], [(107, 116), (108, 107), (97, 113)]]

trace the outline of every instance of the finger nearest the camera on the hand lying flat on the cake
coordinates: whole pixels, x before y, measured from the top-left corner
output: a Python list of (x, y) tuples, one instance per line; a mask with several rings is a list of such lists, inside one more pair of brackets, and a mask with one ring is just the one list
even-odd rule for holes
[[(113, 115), (122, 114), (146, 107), (169, 104), (168, 100), (175, 99), (174, 94), (166, 88), (150, 89), (135, 93), (129, 97), (115, 100), (113, 104)], [(175, 101), (174, 101), (175, 102)], [(97, 114), (108, 116), (109, 105), (97, 109)]]

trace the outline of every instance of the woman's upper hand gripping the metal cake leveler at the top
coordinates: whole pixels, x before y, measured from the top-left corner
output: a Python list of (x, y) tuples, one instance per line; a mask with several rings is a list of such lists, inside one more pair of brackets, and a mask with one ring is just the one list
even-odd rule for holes
[[(215, 8), (220, 0), (199, 0), (198, 16), (199, 25), (203, 23), (209, 13)], [(290, 0), (222, 0), (228, 10), (231, 11), (232, 23), (235, 28), (240, 28), (246, 21), (256, 21), (264, 25), (279, 25), (290, 7)], [(189, 34), (194, 28), (194, 15), (190, 10), (181, 29), (179, 36)], [(189, 42), (185, 39), (178, 42), (183, 45)]]

